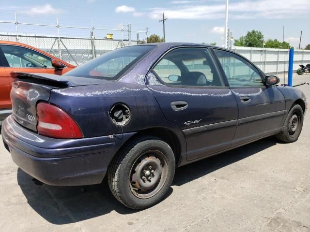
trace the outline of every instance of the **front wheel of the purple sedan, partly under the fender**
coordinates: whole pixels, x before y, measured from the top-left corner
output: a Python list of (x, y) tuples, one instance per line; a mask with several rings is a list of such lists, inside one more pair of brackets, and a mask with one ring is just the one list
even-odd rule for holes
[[(294, 123), (296, 121), (297, 123)], [(288, 113), (281, 131), (276, 138), (284, 143), (293, 143), (297, 141), (304, 122), (304, 112), (300, 105), (294, 104)]]

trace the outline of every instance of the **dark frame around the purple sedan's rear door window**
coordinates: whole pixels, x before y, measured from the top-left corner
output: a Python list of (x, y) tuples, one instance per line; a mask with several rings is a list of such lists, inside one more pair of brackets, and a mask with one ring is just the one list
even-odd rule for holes
[[(176, 50), (176, 49), (180, 49), (180, 48), (202, 48), (202, 49), (205, 49), (205, 50), (208, 50), (209, 54), (210, 54), (210, 57), (213, 59), (214, 61), (214, 68), (217, 70), (217, 73), (218, 73), (218, 77), (221, 78), (224, 86), (182, 86), (182, 85), (169, 85), (168, 83), (166, 82), (163, 82), (161, 80), (161, 78), (158, 76), (158, 74), (155, 72), (154, 70), (154, 67), (163, 59), (165, 58), (165, 56), (172, 52), (173, 50)], [(214, 88), (229, 88), (229, 85), (228, 85), (228, 81), (227, 81), (227, 78), (226, 78), (226, 75), (223, 76), (222, 72), (221, 72), (221, 66), (218, 65), (218, 62), (217, 62), (217, 57), (214, 56), (214, 53), (212, 51), (212, 48), (210, 47), (207, 47), (207, 46), (177, 46), (177, 47), (173, 47), (169, 50), (167, 50), (165, 53), (163, 53), (157, 60), (156, 62), (152, 65), (152, 67), (150, 68), (150, 70), (148, 71), (148, 73), (146, 74), (145, 77), (147, 77), (147, 75), (152, 71), (156, 78), (158, 79), (158, 81), (160, 83), (162, 83), (164, 86), (168, 86), (168, 87), (174, 87), (174, 88), (200, 88), (200, 89), (214, 89)], [(180, 70), (181, 73), (182, 73), (182, 70)]]

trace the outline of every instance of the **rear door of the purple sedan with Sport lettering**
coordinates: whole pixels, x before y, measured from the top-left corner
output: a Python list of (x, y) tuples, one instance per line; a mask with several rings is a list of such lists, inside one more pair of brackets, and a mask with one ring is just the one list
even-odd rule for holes
[(207, 48), (169, 51), (148, 73), (146, 83), (166, 119), (184, 132), (187, 160), (231, 146), (237, 103)]

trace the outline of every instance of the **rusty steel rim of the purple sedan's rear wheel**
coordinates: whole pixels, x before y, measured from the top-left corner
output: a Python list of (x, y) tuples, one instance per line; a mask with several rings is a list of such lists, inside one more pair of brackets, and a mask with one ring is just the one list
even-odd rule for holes
[(168, 164), (165, 155), (158, 150), (146, 151), (131, 167), (130, 190), (140, 199), (151, 198), (163, 187), (167, 176)]

